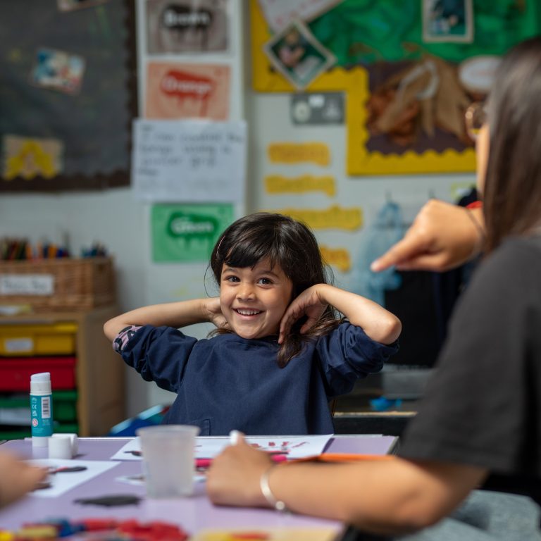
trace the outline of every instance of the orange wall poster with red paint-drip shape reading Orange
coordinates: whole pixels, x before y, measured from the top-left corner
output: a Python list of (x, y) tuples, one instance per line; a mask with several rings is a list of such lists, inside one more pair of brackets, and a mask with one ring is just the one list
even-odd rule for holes
[(146, 91), (146, 118), (229, 118), (229, 66), (151, 62)]

